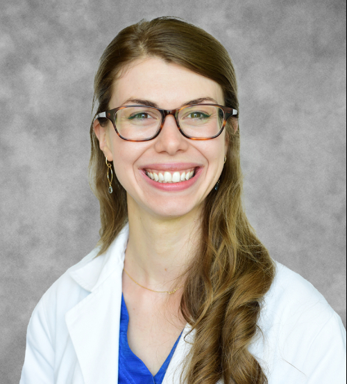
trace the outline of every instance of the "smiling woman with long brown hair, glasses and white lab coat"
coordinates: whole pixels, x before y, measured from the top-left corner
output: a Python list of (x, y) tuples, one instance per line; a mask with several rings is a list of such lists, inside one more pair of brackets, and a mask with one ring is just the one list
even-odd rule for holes
[(35, 308), (21, 384), (344, 383), (341, 319), (244, 214), (221, 44), (178, 19), (129, 26), (94, 103), (101, 240)]

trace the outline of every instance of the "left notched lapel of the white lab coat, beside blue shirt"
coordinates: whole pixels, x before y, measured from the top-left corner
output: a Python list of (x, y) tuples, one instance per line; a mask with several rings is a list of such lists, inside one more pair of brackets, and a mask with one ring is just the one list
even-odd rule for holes
[(121, 274), (128, 226), (105, 255), (70, 275), (90, 291), (65, 316), (85, 384), (118, 383)]

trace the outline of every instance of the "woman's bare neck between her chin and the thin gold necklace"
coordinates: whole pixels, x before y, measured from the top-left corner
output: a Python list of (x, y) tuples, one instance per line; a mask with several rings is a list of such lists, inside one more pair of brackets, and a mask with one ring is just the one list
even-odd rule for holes
[(171, 291), (184, 283), (184, 273), (200, 240), (200, 212), (179, 218), (148, 214), (128, 197), (129, 241), (124, 268), (139, 284)]

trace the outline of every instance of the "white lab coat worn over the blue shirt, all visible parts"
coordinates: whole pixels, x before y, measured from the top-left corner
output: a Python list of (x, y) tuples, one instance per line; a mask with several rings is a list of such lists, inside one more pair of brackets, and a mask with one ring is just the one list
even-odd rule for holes
[[(92, 251), (46, 291), (33, 311), (20, 384), (117, 384), (121, 276), (128, 226), (108, 251)], [(276, 262), (249, 350), (269, 384), (345, 384), (346, 330), (325, 298)], [(189, 351), (183, 331), (163, 384), (178, 384)], [(194, 335), (191, 335), (192, 342)], [(188, 339), (189, 341), (189, 339)], [(219, 382), (221, 384), (221, 382)]]

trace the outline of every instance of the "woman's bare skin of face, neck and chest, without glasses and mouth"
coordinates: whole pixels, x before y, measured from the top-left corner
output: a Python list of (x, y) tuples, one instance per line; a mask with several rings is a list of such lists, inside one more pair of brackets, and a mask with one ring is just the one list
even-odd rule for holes
[[(124, 68), (114, 83), (109, 109), (139, 104), (130, 99), (153, 102), (162, 109), (176, 109), (198, 98), (206, 104), (223, 105), (218, 83), (185, 67), (145, 58)], [(225, 130), (217, 138), (194, 141), (178, 131), (168, 115), (159, 136), (151, 141), (130, 142), (119, 138), (111, 122), (94, 122), (100, 148), (114, 161), (117, 178), (127, 192), (129, 240), (124, 268), (139, 284), (158, 291), (171, 291), (183, 284), (180, 276), (200, 239), (203, 201), (223, 170), (228, 141)], [(183, 191), (162, 191), (146, 180), (144, 168), (194, 163), (199, 175)], [(167, 358), (185, 326), (179, 313), (182, 289), (160, 294), (138, 285), (123, 273), (123, 293), (129, 312), (130, 349), (154, 375)]]

